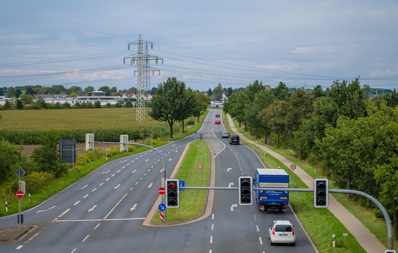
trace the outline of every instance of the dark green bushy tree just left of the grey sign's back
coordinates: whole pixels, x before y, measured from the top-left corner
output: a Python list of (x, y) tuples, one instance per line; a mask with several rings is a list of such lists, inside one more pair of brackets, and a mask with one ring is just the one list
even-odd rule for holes
[(60, 165), (60, 155), (58, 141), (60, 140), (57, 132), (51, 128), (40, 138), (41, 147), (35, 148), (32, 159), (36, 162), (39, 171), (53, 172), (56, 177), (61, 177), (66, 173), (66, 167)]

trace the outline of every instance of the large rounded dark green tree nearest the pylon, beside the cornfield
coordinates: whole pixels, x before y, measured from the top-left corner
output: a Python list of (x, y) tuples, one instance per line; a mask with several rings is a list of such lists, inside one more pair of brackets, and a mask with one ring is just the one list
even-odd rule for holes
[(185, 103), (185, 83), (177, 78), (167, 78), (166, 82), (158, 85), (156, 94), (152, 97), (149, 116), (157, 121), (166, 121), (170, 126), (170, 138), (173, 138), (173, 125), (181, 119)]

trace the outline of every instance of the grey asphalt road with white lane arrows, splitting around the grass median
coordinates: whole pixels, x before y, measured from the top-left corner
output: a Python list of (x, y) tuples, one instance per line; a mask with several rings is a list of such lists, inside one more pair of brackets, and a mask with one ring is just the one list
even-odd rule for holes
[[(216, 187), (237, 187), (240, 175), (254, 177), (255, 169), (265, 166), (250, 148), (220, 138), (225, 129), (214, 124), (216, 113), (221, 111), (210, 110), (196, 138), (202, 133), (215, 154)], [(185, 145), (194, 140), (191, 135), (158, 148), (167, 177)], [(239, 206), (236, 190), (216, 190), (212, 214), (198, 222), (143, 226), (159, 196), (163, 173), (163, 162), (153, 150), (105, 163), (23, 212), (24, 225), (37, 229), (20, 241), (0, 243), (0, 252), (316, 252), (290, 208), (279, 213), (260, 212), (255, 203)], [(295, 225), (296, 246), (269, 245), (267, 225), (275, 219)], [(0, 229), (15, 226), (15, 215), (0, 218)]]

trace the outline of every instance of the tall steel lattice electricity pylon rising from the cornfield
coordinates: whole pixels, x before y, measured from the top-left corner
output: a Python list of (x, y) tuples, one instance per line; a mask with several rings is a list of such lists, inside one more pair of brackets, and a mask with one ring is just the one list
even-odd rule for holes
[[(145, 52), (143, 52), (143, 45), (145, 44)], [(130, 45), (138, 45), (138, 50), (136, 54), (131, 54), (130, 56), (124, 57), (123, 58), (123, 64), (125, 63), (126, 59), (130, 59), (130, 64), (133, 65), (135, 64), (135, 61), (137, 60), (137, 70), (134, 71), (134, 76), (135, 72), (137, 72), (137, 102), (136, 102), (136, 107), (137, 107), (137, 121), (144, 121), (145, 120), (145, 115), (147, 115), (147, 107), (146, 107), (146, 93), (148, 90), (150, 90), (150, 71), (152, 71), (152, 74), (154, 74), (155, 71), (159, 71), (160, 75), (160, 70), (156, 70), (154, 68), (150, 67), (150, 60), (155, 60), (155, 63), (158, 63), (158, 60), (162, 60), (163, 64), (163, 59), (159, 58), (156, 55), (151, 55), (149, 54), (148, 50), (148, 44), (151, 45), (151, 49), (153, 49), (153, 44), (152, 42), (149, 41), (142, 41), (141, 35), (138, 38), (138, 41), (134, 41), (132, 43), (129, 43), (128, 49), (130, 50)]]

